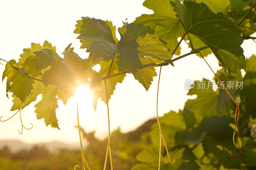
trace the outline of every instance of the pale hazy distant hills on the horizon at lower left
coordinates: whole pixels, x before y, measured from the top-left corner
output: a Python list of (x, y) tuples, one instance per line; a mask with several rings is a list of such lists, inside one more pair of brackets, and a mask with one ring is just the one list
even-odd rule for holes
[(58, 149), (70, 149), (70, 150), (75, 150), (75, 149), (80, 149), (80, 144), (79, 143), (64, 143), (64, 142), (58, 142), (58, 141), (53, 141), (53, 142), (45, 142), (45, 143), (38, 143), (38, 144), (28, 144), (24, 143), (20, 140), (0, 140), (0, 150), (4, 146), (8, 146), (11, 150), (11, 152), (15, 153), (20, 150), (29, 150), (33, 148), (35, 145), (37, 146), (44, 146), (48, 149), (50, 152), (55, 152)]

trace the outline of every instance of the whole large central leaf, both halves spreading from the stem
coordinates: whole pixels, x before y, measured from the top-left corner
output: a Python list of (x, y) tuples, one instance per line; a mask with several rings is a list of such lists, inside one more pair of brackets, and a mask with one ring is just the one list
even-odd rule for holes
[(114, 53), (118, 53), (118, 70), (131, 72), (146, 90), (156, 72), (154, 62), (145, 56), (172, 64), (172, 55), (166, 43), (148, 26), (131, 23), (118, 28), (121, 39), (116, 43), (112, 34), (114, 31), (111, 30), (112, 23), (108, 22), (109, 26), (105, 21), (89, 17), (83, 17), (77, 23), (74, 33), (80, 34), (77, 39), (81, 39), (81, 48), (87, 48), (86, 52), (93, 56), (94, 63), (112, 60)]

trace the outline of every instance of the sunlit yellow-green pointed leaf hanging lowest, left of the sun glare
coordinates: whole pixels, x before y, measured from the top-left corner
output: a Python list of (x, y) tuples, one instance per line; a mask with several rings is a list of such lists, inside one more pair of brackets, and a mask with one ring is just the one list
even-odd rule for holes
[(56, 108), (58, 108), (58, 99), (56, 98), (57, 87), (48, 85), (44, 86), (43, 89), (42, 100), (35, 105), (36, 118), (44, 118), (46, 126), (50, 124), (53, 128), (60, 129), (56, 117)]

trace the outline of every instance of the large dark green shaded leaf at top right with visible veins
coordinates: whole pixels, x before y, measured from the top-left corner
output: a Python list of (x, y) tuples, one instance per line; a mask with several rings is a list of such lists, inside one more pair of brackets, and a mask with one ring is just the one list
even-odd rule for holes
[(211, 49), (226, 74), (236, 73), (246, 67), (241, 44), (241, 29), (222, 13), (212, 12), (204, 3), (179, 0), (171, 2), (177, 17), (188, 33), (193, 34)]

